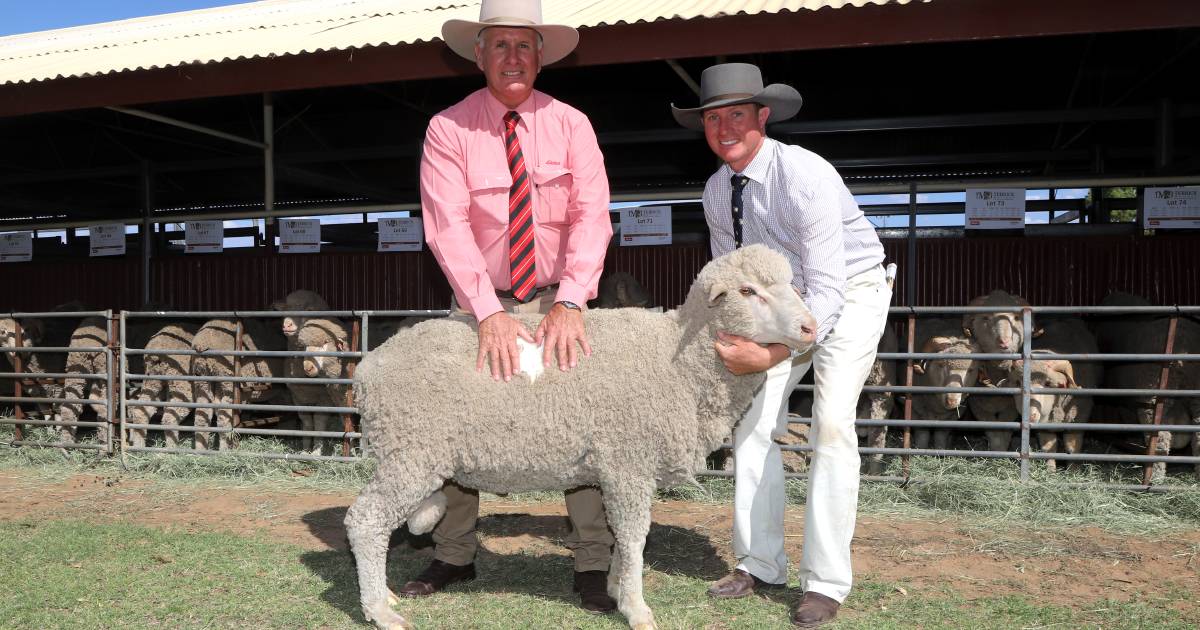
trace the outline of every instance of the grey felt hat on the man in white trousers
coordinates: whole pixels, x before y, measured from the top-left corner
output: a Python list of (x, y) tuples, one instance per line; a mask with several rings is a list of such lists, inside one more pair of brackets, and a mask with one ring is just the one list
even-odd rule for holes
[(706, 109), (739, 103), (758, 103), (770, 108), (767, 122), (787, 120), (800, 110), (804, 98), (796, 88), (782, 83), (762, 86), (762, 73), (752, 64), (719, 64), (700, 76), (700, 107), (679, 108), (671, 103), (676, 122), (703, 131)]

